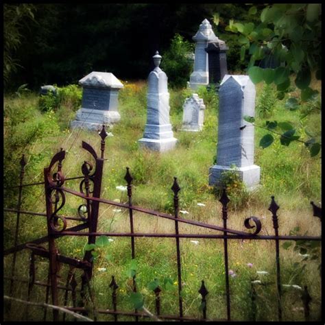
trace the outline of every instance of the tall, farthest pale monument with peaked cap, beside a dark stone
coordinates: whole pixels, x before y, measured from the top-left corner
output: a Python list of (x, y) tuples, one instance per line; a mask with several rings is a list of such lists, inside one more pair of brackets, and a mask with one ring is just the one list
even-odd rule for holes
[(196, 90), (198, 86), (208, 85), (208, 53), (205, 48), (209, 40), (218, 40), (207, 19), (202, 21), (199, 30), (193, 36), (195, 40), (194, 71), (190, 76), (189, 86)]

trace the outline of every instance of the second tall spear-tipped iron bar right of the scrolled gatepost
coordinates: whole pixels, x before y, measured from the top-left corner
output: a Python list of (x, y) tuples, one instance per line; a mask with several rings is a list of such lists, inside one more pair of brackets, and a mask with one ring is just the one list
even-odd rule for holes
[[(177, 178), (173, 178), (173, 186), (171, 186), (173, 191), (173, 207), (175, 218), (178, 218), (178, 192), (180, 191), (180, 186), (178, 186)], [(178, 231), (178, 221), (175, 221), (175, 233), (179, 234)], [(181, 261), (180, 261), (180, 239), (176, 237), (176, 254), (177, 254), (177, 272), (178, 272), (178, 304), (180, 309), (180, 317), (183, 317), (183, 302), (182, 302), (182, 274), (181, 274)], [(182, 322), (182, 320), (181, 320)]]

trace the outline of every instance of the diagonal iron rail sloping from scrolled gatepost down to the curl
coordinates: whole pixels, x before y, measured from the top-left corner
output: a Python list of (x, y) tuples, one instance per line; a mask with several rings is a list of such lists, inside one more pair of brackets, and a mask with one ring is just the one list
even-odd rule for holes
[(145, 208), (141, 208), (139, 206), (130, 206), (128, 204), (118, 203), (118, 202), (115, 202), (115, 201), (101, 199), (101, 198), (93, 197), (93, 196), (89, 197), (89, 196), (83, 195), (82, 193), (73, 191), (71, 189), (67, 189), (66, 187), (63, 187), (63, 186), (58, 187), (58, 189), (61, 189), (62, 191), (65, 191), (67, 193), (82, 197), (85, 200), (97, 201), (97, 202), (101, 202), (101, 203), (104, 203), (104, 204), (110, 204), (112, 206), (119, 206), (120, 208), (128, 208), (128, 209), (136, 210), (136, 211), (139, 211), (139, 212), (142, 212), (142, 213), (146, 213), (147, 215), (154, 215), (156, 217), (162, 217), (162, 218), (173, 220), (173, 221), (179, 221), (179, 222), (182, 222), (184, 224), (191, 224), (193, 226), (200, 226), (202, 228), (219, 230), (219, 231), (222, 231), (222, 232), (226, 231), (226, 232), (230, 232), (232, 234), (241, 234), (243, 236), (247, 236), (247, 232), (241, 232), (241, 231), (232, 230), (232, 229), (224, 229), (224, 228), (221, 228), (219, 226), (204, 224), (204, 223), (202, 223), (200, 221), (193, 221), (193, 220), (189, 220), (189, 219), (183, 219), (183, 218), (180, 218), (180, 217), (176, 218), (176, 217), (173, 217), (172, 215), (168, 215), (167, 213), (159, 213), (157, 211), (148, 210), (148, 209), (145, 209)]

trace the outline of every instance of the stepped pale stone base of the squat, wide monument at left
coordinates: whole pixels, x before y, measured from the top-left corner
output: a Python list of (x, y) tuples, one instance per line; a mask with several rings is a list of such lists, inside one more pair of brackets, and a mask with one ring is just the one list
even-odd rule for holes
[(70, 123), (70, 128), (87, 128), (88, 130), (98, 130), (103, 124), (112, 127), (121, 119), (117, 111), (95, 110), (80, 108), (77, 110), (75, 121)]

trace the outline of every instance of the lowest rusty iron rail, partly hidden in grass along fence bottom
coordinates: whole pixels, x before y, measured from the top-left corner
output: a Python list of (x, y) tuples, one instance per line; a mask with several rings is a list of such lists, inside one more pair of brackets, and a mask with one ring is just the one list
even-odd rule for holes
[[(82, 311), (86, 311), (86, 309), (84, 307), (69, 307), (69, 306), (64, 306), (65, 309), (69, 309), (70, 311), (76, 311), (76, 312), (82, 312)], [(150, 317), (149, 315), (147, 315), (146, 313), (143, 313), (141, 311), (138, 311), (137, 313), (134, 313), (132, 311), (113, 311), (110, 309), (96, 309), (97, 313), (101, 313), (101, 314), (110, 314), (110, 315), (125, 315), (125, 316), (130, 316), (130, 317), (134, 317), (134, 316), (140, 316), (140, 317)], [(202, 318), (195, 318), (195, 317), (189, 317), (189, 316), (183, 316), (183, 317), (179, 317), (176, 315), (156, 315), (157, 317), (159, 317), (160, 319), (165, 319), (165, 320), (185, 320), (185, 321), (193, 321), (193, 322), (200, 322), (203, 319)], [(218, 320), (204, 320), (204, 321), (213, 321), (213, 322), (226, 322), (226, 320), (224, 319), (218, 319)]]

